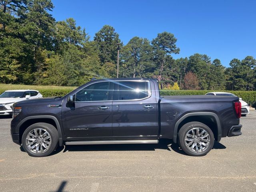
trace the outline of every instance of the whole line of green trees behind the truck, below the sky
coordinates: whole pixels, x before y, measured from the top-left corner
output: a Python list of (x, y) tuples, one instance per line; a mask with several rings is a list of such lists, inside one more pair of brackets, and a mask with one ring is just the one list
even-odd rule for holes
[(256, 90), (252, 56), (234, 58), (229, 68), (206, 54), (175, 60), (174, 34), (159, 33), (151, 42), (136, 36), (123, 46), (109, 25), (91, 41), (73, 18), (56, 22), (53, 7), (51, 0), (0, 0), (1, 83), (79, 86), (92, 77), (114, 78), (120, 44), (120, 77), (158, 78), (161, 88), (177, 82), (180, 89)]

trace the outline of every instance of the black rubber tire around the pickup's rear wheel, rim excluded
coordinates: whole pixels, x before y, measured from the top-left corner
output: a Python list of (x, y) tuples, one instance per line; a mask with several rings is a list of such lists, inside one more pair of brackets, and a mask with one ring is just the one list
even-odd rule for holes
[[(202, 128), (202, 129), (206, 130), (210, 136), (210, 144), (204, 152), (199, 152), (199, 153), (192, 152), (186, 147), (186, 144), (185, 144), (186, 133), (190, 129), (195, 128), (195, 127)], [(178, 142), (180, 144), (180, 147), (186, 154), (188, 154), (190, 156), (204, 156), (208, 152), (210, 152), (210, 150), (212, 149), (212, 147), (214, 145), (214, 134), (213, 134), (212, 130), (207, 125), (200, 123), (200, 122), (190, 122), (190, 123), (187, 123), (184, 126), (182, 126), (182, 128), (180, 129)]]

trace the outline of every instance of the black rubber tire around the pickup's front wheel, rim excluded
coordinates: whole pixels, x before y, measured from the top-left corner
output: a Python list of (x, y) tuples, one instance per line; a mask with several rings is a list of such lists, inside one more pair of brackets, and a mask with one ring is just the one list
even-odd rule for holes
[[(29, 134), (30, 131), (34, 130), (35, 128), (41, 128), (41, 129), (46, 130), (50, 134), (50, 139), (51, 139), (51, 144), (50, 144), (50, 147), (48, 148), (48, 150), (45, 151), (45, 152), (42, 152), (42, 153), (38, 153), (38, 154), (32, 152), (28, 148), (28, 146), (26, 145), (26, 137), (27, 137), (27, 135)], [(57, 148), (57, 146), (58, 146), (58, 139), (59, 139), (58, 131), (57, 131), (57, 129), (53, 125), (48, 124), (48, 123), (35, 123), (35, 124), (30, 125), (24, 131), (24, 133), (22, 135), (22, 146), (23, 146), (24, 150), (30, 156), (33, 156), (33, 157), (45, 157), (45, 156), (50, 155)]]

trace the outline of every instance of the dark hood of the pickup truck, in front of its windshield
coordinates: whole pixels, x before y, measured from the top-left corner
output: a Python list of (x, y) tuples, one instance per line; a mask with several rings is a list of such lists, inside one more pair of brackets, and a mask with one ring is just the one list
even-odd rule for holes
[(20, 102), (16, 102), (13, 106), (24, 106), (24, 105), (44, 105), (44, 104), (61, 104), (62, 99), (56, 97), (46, 97), (37, 99), (28, 99)]

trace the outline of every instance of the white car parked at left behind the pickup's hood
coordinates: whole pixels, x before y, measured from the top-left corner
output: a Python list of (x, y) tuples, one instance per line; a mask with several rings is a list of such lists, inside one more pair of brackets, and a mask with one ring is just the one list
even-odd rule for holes
[(42, 98), (42, 94), (37, 90), (8, 90), (0, 95), (0, 115), (11, 115), (12, 105), (15, 102)]

